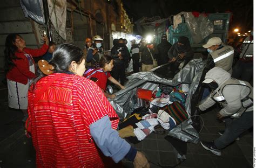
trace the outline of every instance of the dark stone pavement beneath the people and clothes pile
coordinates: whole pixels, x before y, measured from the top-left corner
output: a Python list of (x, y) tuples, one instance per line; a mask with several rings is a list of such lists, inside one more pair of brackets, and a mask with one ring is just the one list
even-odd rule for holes
[[(2, 95), (7, 95), (7, 90), (0, 86)], [(31, 139), (24, 135), (24, 123), (21, 111), (11, 110), (7, 107), (6, 96), (0, 98), (2, 111), (0, 124), (0, 167), (36, 167), (35, 150)], [(202, 114), (204, 128), (200, 138), (212, 141), (219, 137), (218, 131), (223, 130), (224, 123), (216, 121), (218, 108)], [(166, 132), (167, 135), (167, 132)], [(135, 144), (136, 149), (143, 151), (147, 158), (163, 167), (176, 165), (179, 160), (173, 151), (172, 145), (164, 139), (165, 135), (152, 133), (142, 142)], [(227, 148), (221, 151), (221, 156), (215, 156), (206, 151), (199, 144), (187, 144), (186, 160), (177, 167), (253, 167), (253, 132), (247, 131)], [(123, 160), (124, 167), (133, 167), (129, 161)], [(151, 163), (151, 167), (160, 167)]]

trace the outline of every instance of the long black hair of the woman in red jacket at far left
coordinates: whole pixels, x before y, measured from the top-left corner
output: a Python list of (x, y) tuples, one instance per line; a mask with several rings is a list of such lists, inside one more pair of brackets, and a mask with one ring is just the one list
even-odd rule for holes
[(18, 51), (18, 47), (14, 45), (17, 36), (19, 36), (19, 34), (12, 33), (12, 34), (9, 34), (5, 39), (5, 49), (4, 49), (4, 72), (5, 73), (8, 73), (15, 66), (14, 60), (21, 59), (15, 55), (15, 52)]

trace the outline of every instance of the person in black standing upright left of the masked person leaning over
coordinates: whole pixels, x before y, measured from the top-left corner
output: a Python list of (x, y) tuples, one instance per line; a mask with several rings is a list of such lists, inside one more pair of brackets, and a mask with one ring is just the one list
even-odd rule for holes
[(172, 46), (171, 43), (169, 43), (167, 41), (166, 34), (163, 34), (163, 36), (161, 37), (161, 43), (157, 45), (157, 49), (158, 49), (157, 64), (158, 64), (158, 66), (166, 64), (169, 61), (167, 52), (170, 50), (171, 46)]

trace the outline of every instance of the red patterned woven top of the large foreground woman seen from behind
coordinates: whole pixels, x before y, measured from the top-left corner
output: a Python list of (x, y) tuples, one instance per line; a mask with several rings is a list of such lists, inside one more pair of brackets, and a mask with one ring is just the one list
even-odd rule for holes
[[(54, 75), (39, 80), (33, 92)], [(36, 104), (33, 92), (28, 94), (28, 113), (37, 167), (104, 167), (105, 157), (91, 139), (90, 125), (108, 115), (116, 129), (119, 118), (102, 89), (82, 76), (65, 74)]]

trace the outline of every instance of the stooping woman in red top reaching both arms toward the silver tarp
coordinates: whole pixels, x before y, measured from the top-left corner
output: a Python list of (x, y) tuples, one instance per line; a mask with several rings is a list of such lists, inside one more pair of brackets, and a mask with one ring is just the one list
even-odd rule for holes
[(109, 55), (103, 55), (99, 61), (99, 68), (92, 69), (92, 71), (84, 74), (84, 77), (87, 79), (93, 80), (92, 78), (94, 78), (96, 84), (103, 90), (104, 95), (110, 99), (114, 99), (116, 95), (106, 93), (107, 80), (119, 86), (121, 89), (125, 89), (123, 85), (110, 75), (113, 66), (113, 59)]

